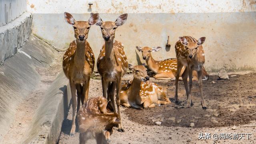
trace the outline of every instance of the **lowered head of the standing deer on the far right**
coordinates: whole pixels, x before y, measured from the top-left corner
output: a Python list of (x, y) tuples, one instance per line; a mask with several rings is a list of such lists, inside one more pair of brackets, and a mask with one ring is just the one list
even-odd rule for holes
[(205, 37), (199, 38), (197, 41), (193, 39), (192, 42), (188, 42), (186, 38), (179, 37), (181, 44), (183, 44), (188, 52), (188, 57), (194, 58), (197, 54), (198, 46), (201, 46), (204, 43)]

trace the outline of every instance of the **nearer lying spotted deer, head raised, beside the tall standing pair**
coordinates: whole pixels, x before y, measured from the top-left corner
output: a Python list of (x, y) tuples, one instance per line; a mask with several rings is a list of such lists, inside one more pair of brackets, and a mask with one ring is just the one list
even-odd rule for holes
[(144, 65), (132, 66), (133, 80), (128, 80), (121, 88), (121, 104), (126, 108), (153, 108), (157, 104), (170, 104), (163, 89), (153, 82), (148, 82), (149, 76)]

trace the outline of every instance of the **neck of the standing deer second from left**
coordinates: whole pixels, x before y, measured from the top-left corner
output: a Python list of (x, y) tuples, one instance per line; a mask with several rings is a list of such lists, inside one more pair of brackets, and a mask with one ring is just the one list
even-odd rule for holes
[(108, 68), (115, 66), (115, 55), (114, 55), (114, 40), (105, 41), (105, 62)]

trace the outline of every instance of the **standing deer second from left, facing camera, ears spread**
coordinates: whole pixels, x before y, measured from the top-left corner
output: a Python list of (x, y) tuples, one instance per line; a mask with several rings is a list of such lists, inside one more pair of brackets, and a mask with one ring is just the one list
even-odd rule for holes
[(120, 132), (124, 132), (120, 115), (120, 88), (122, 76), (124, 76), (128, 68), (128, 62), (122, 43), (114, 40), (114, 38), (116, 28), (126, 22), (127, 16), (128, 14), (122, 14), (115, 22), (103, 22), (99, 18), (96, 24), (100, 26), (102, 37), (105, 40), (105, 44), (102, 46), (97, 60), (98, 72), (101, 75), (103, 96), (111, 100), (114, 106), (114, 112), (116, 112), (114, 104), (114, 91), (116, 90), (116, 105), (120, 120), (118, 131)]

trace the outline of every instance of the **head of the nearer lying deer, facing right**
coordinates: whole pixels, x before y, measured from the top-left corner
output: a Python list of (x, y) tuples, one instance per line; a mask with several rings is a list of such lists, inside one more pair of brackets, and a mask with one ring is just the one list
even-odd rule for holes
[(129, 70), (133, 72), (133, 78), (135, 80), (146, 82), (149, 80), (149, 76), (147, 74), (147, 68), (145, 68), (145, 64), (133, 66), (132, 64), (128, 64)]

